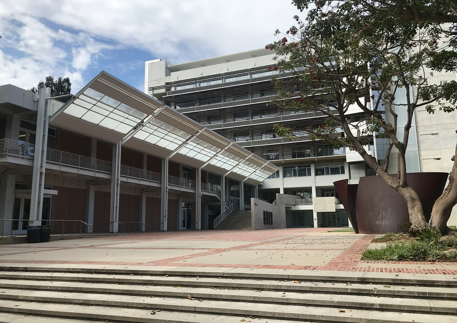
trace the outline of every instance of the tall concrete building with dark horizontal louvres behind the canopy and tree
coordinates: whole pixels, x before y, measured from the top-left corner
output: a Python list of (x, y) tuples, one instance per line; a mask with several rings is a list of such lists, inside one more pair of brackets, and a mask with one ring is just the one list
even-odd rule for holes
[[(333, 182), (349, 179), (355, 184), (360, 177), (375, 173), (359, 154), (348, 149), (334, 149), (306, 136), (292, 141), (276, 136), (275, 123), (304, 129), (322, 125), (326, 117), (319, 112), (304, 113), (267, 104), (275, 95), (271, 78), (291, 76), (290, 73), (279, 74), (272, 68), (275, 66), (273, 57), (274, 53), (262, 48), (182, 64), (154, 59), (145, 62), (144, 91), (277, 165), (279, 170), (259, 185), (259, 197), (274, 202), (276, 193), (297, 196), (296, 205), (287, 207), (288, 227), (348, 226), (350, 223)], [(354, 117), (362, 115), (356, 107), (348, 113)], [(426, 120), (426, 116), (421, 116), (422, 111), (418, 113), (416, 122), (421, 125), (424, 121), (420, 120)], [(455, 119), (455, 114), (452, 118)], [(440, 127), (439, 122), (431, 126), (437, 127)], [(413, 130), (415, 133), (415, 128)], [(425, 139), (421, 141), (422, 137), (418, 137), (419, 147), (422, 141), (425, 143)], [(366, 147), (380, 163), (386, 149), (387, 141), (382, 138), (375, 138)], [(411, 144), (409, 151), (411, 155), (415, 151), (416, 159), (419, 159), (416, 143)], [(440, 159), (441, 151), (424, 150), (423, 154), (428, 157), (431, 154), (436, 160)], [(419, 165), (419, 160), (414, 163), (413, 157), (408, 160), (409, 169), (420, 171), (414, 167)], [(421, 164), (425, 164), (425, 159)], [(434, 166), (426, 170), (448, 171), (451, 166), (449, 159), (440, 169)], [(329, 205), (328, 199), (321, 199), (328, 196), (335, 196), (335, 205)]]

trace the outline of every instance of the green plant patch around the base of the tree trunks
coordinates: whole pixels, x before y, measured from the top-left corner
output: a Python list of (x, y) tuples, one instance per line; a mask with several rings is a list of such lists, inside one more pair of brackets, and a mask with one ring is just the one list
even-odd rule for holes
[(406, 234), (386, 233), (372, 242), (388, 242), (381, 249), (368, 249), (363, 260), (457, 261), (456, 231), (441, 237), (435, 229), (424, 229), (418, 238)]

